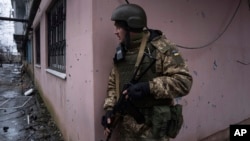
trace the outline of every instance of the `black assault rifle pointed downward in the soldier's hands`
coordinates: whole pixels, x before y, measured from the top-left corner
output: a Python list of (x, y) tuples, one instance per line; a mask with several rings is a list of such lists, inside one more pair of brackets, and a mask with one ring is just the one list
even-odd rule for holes
[[(149, 57), (149, 59), (152, 59), (152, 61), (149, 64), (149, 66), (142, 73), (140, 73), (139, 76), (137, 76), (137, 73), (139, 71), (141, 63), (143, 62), (145, 56)], [(126, 95), (123, 94), (122, 92), (124, 90), (128, 89), (130, 86), (136, 84), (141, 79), (141, 77), (151, 68), (151, 66), (155, 62), (156, 62), (156, 59), (154, 57), (152, 57), (152, 55), (150, 55), (148, 53), (144, 53), (144, 55), (142, 56), (142, 59), (140, 61), (139, 67), (136, 68), (132, 79), (130, 80), (129, 83), (127, 83), (123, 86), (123, 89), (120, 92), (120, 97), (119, 97), (117, 103), (113, 107), (113, 111), (112, 111), (113, 116), (111, 117), (111, 123), (107, 124), (107, 128), (109, 128), (110, 133), (107, 136), (106, 141), (109, 141), (109, 139), (111, 138), (113, 129), (116, 127), (118, 122), (122, 119), (122, 117), (126, 114), (132, 116), (138, 124), (142, 124), (145, 122), (145, 118), (144, 118), (143, 114), (139, 111), (139, 109), (137, 109), (133, 105), (133, 103), (129, 99), (126, 99)]]

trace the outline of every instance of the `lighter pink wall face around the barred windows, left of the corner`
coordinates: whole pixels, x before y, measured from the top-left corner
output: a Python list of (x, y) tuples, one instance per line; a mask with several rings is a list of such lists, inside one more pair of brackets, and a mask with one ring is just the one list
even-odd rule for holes
[[(52, 109), (67, 141), (95, 140), (93, 104), (92, 1), (67, 2), (66, 79), (47, 69), (46, 9), (50, 0), (41, 1), (34, 26), (41, 25), (41, 66), (35, 67), (37, 85)], [(51, 110), (50, 109), (50, 110)]]

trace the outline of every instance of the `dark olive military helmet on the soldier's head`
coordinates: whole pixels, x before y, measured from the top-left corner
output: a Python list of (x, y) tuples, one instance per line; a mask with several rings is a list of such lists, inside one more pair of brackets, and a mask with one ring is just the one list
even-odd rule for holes
[(112, 13), (112, 21), (124, 21), (130, 28), (144, 28), (147, 26), (147, 16), (142, 7), (136, 4), (123, 4)]

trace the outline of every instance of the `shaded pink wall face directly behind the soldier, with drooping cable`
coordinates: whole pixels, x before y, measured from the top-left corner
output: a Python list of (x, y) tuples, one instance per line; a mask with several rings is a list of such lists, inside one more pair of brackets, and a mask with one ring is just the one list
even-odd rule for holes
[[(250, 98), (248, 87), (250, 80), (250, 57), (248, 55), (250, 54), (250, 41), (248, 40), (250, 19), (248, 16), (250, 11), (246, 0), (241, 2), (238, 9), (240, 1), (233, 0), (160, 0), (157, 2), (133, 0), (130, 2), (139, 4), (145, 9), (148, 14), (149, 28), (161, 29), (167, 38), (178, 45), (200, 48), (180, 48), (193, 75), (194, 84), (188, 96), (176, 100), (184, 105), (185, 123), (174, 140), (201, 140), (228, 128), (230, 124), (250, 117), (248, 110), (250, 104), (247, 102)], [(102, 106), (102, 103), (99, 106), (98, 103), (104, 98), (103, 83), (107, 79), (107, 70), (111, 68), (110, 63), (101, 59), (101, 56), (106, 55), (111, 62), (110, 52), (113, 53), (115, 48), (115, 46), (103, 47), (106, 40), (111, 38), (109, 36), (112, 32), (108, 31), (107, 25), (103, 23), (109, 23), (107, 19), (110, 19), (112, 13), (109, 8), (114, 9), (121, 3), (125, 2), (98, 1), (96, 8), (98, 10), (95, 11), (97, 23), (94, 22), (96, 24), (94, 24), (94, 32), (97, 34), (94, 35), (95, 40), (100, 39), (99, 42), (95, 42), (96, 46), (94, 46), (96, 53), (100, 51), (94, 59), (96, 61), (94, 67), (99, 70), (96, 72), (98, 77), (95, 77), (97, 80), (95, 87), (100, 87), (95, 91), (98, 112), (101, 111)], [(105, 10), (102, 9), (104, 5)], [(107, 12), (110, 15), (107, 15)], [(235, 12), (236, 15), (231, 21)], [(105, 18), (105, 16), (108, 17)], [(99, 23), (103, 26), (98, 26)], [(105, 35), (108, 37), (104, 37)], [(209, 45), (203, 47), (207, 44)], [(108, 48), (113, 48), (113, 50)], [(101, 69), (99, 69), (100, 66), (102, 66)], [(97, 119), (99, 117), (97, 116)], [(101, 135), (101, 126), (96, 126), (98, 127), (97, 134)]]

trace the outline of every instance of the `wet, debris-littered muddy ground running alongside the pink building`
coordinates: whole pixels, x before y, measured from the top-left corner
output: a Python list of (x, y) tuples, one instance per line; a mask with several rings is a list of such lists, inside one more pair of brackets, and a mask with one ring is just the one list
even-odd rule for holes
[[(0, 67), (0, 141), (63, 141), (21, 64)], [(33, 90), (32, 93), (28, 93)]]

